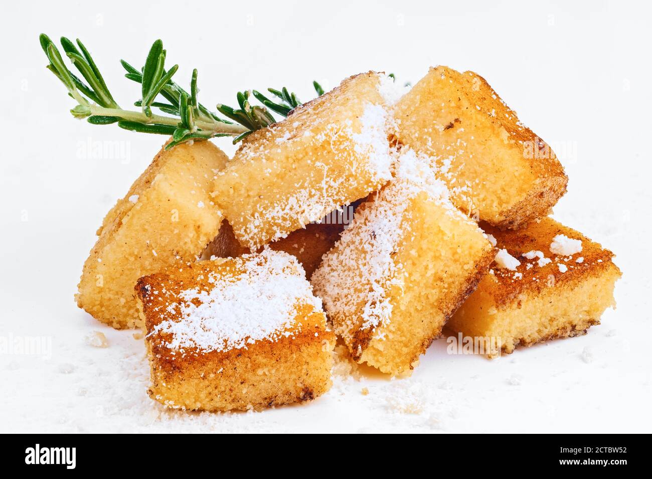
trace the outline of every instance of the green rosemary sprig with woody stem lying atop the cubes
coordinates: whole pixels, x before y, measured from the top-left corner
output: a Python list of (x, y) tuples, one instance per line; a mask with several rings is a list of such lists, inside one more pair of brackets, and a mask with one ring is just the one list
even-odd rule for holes
[[(64, 65), (61, 53), (47, 35), (40, 35), (40, 44), (50, 63), (50, 70), (68, 90), (68, 95), (74, 98), (77, 106), (70, 113), (77, 118), (86, 118), (91, 124), (117, 123), (121, 128), (135, 132), (171, 135), (172, 141), (166, 149), (184, 143), (218, 136), (234, 136), (237, 143), (252, 132), (276, 123), (267, 108), (286, 117), (289, 112), (301, 105), (295, 93), (289, 93), (286, 87), (280, 90), (268, 89), (278, 98), (273, 102), (256, 90), (243, 91), (237, 94), (239, 109), (223, 104), (217, 105), (217, 110), (233, 122), (222, 119), (198, 102), (197, 70), (193, 70), (190, 79), (190, 93), (172, 80), (179, 69), (178, 65), (169, 70), (165, 68), (166, 50), (161, 40), (152, 45), (145, 66), (140, 70), (121, 60), (126, 70), (125, 77), (141, 85), (141, 98), (134, 102), (140, 111), (121, 108), (111, 96), (111, 93), (97, 68), (89, 51), (80, 40), (77, 46), (68, 38), (61, 38), (61, 46), (73, 65), (79, 70), (84, 83)], [(318, 95), (323, 94), (321, 85), (313, 82)], [(252, 105), (250, 96), (254, 96), (263, 106)], [(156, 101), (162, 96), (165, 102)], [(157, 108), (171, 117), (156, 115), (152, 109)]]

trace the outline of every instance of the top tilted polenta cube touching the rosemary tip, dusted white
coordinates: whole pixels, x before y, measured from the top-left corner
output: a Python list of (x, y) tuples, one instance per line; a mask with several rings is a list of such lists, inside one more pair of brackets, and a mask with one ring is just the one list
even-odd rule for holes
[(243, 141), (214, 190), (243, 246), (286, 237), (391, 178), (392, 85), (384, 74), (352, 76)]

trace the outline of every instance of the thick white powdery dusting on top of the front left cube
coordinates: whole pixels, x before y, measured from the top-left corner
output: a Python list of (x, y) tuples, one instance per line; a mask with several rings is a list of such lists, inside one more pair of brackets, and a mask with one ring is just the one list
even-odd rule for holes
[(312, 295), (295, 257), (266, 249), (235, 261), (235, 274), (208, 274), (209, 291), (181, 291), (166, 308), (175, 318), (156, 325), (149, 336), (171, 334), (166, 346), (177, 351), (228, 351), (291, 335), (299, 326), (298, 306), (321, 310), (321, 300)]

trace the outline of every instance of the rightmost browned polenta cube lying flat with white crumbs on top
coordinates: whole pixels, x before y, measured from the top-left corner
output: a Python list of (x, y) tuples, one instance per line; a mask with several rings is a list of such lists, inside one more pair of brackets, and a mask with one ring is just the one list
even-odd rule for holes
[(614, 283), (621, 272), (614, 254), (578, 231), (549, 217), (514, 231), (484, 229), (512, 260), (497, 257), (448, 327), (464, 336), (492, 338), (489, 356), (585, 334), (615, 306)]

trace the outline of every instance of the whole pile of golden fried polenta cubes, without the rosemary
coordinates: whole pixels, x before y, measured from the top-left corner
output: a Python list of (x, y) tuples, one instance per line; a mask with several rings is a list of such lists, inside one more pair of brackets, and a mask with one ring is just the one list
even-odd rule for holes
[(367, 72), (231, 160), (160, 152), (106, 216), (77, 300), (144, 329), (149, 394), (181, 409), (314, 399), (336, 340), (391, 375), (445, 327), (511, 353), (613, 304), (612, 253), (546, 216), (566, 185), (477, 74), (432, 68), (406, 93)]

